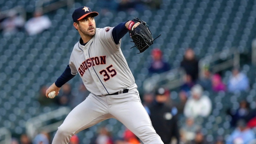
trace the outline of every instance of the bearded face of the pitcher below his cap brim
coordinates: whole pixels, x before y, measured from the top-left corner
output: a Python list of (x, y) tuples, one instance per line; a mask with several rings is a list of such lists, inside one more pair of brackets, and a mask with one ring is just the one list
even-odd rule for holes
[(94, 36), (96, 32), (96, 24), (94, 17), (86, 17), (79, 21), (78, 31), (81, 31), (85, 36)]

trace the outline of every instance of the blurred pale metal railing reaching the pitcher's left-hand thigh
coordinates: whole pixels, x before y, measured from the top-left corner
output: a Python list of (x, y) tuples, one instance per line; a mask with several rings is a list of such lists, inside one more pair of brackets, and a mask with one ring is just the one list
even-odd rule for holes
[(28, 137), (33, 138), (39, 132), (53, 132), (63, 123), (62, 120), (57, 120), (54, 123), (47, 123), (50, 120), (56, 120), (61, 116), (69, 114), (71, 109), (69, 107), (62, 107), (48, 113), (43, 113), (39, 116), (33, 117), (26, 122), (26, 134)]

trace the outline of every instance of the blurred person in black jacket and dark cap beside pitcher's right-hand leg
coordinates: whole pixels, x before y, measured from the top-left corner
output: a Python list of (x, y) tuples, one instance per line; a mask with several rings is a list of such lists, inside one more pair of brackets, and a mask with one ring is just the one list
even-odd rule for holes
[(179, 143), (178, 110), (175, 106), (166, 104), (169, 96), (166, 93), (163, 87), (156, 90), (154, 102), (148, 106), (147, 113), (149, 114), (152, 126), (164, 144), (170, 144), (173, 137)]

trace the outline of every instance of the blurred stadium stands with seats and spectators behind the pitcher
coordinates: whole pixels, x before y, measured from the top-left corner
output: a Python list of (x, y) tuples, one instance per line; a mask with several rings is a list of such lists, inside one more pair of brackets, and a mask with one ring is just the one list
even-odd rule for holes
[[(166, 144), (256, 144), (256, 0), (1, 0), (0, 144), (51, 143), (90, 93), (76, 76), (45, 97), (80, 38), (71, 15), (83, 5), (99, 12), (97, 28), (138, 17), (161, 34), (141, 54), (129, 35), (121, 48)], [(115, 119), (70, 142), (139, 143)]]

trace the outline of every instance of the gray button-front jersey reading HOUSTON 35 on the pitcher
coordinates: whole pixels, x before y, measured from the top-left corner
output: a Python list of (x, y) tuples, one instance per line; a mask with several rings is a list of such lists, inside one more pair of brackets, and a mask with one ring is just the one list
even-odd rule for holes
[(121, 40), (115, 44), (112, 30), (111, 27), (97, 28), (86, 45), (76, 43), (70, 57), (71, 73), (79, 73), (85, 87), (95, 95), (137, 88), (120, 49)]

